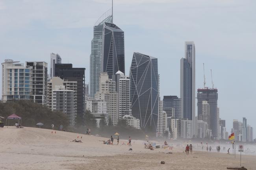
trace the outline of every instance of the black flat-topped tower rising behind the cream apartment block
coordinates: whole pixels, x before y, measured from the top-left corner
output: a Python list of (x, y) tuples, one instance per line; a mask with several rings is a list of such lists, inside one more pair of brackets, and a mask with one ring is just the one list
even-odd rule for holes
[[(85, 113), (85, 68), (73, 68), (72, 64), (55, 64), (55, 76), (77, 82), (77, 120), (83, 120)], [(78, 121), (77, 121), (78, 122)]]

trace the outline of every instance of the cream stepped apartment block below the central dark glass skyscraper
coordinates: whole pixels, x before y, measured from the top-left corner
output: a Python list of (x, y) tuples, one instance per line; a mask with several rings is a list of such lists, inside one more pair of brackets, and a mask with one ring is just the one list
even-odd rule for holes
[(95, 94), (95, 100), (107, 102), (107, 113), (113, 125), (119, 119), (119, 95), (115, 89), (115, 81), (108, 78), (108, 73), (100, 73), (100, 91)]

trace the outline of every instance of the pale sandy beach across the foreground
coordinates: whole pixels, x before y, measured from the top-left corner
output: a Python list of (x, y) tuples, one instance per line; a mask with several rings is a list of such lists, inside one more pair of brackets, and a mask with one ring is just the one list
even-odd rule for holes
[[(83, 143), (70, 142), (77, 136)], [(131, 152), (127, 140), (119, 145), (102, 144), (103, 140), (39, 128), (0, 128), (0, 170), (224, 170), (240, 164), (239, 156), (199, 151), (187, 156), (181, 148), (151, 151), (144, 149), (143, 141), (132, 141)], [(165, 154), (170, 151), (173, 154)], [(256, 170), (256, 156), (242, 159), (248, 170)]]

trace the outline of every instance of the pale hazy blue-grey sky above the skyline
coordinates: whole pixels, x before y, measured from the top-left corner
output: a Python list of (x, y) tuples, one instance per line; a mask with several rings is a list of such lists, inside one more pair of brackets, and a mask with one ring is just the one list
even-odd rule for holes
[[(0, 0), (1, 62), (49, 65), (50, 53), (58, 53), (63, 63), (85, 67), (89, 82), (93, 26), (110, 8), (111, 0)], [(184, 41), (193, 40), (196, 88), (203, 87), (204, 63), (207, 86), (213, 70), (228, 132), (233, 119), (246, 117), (256, 137), (255, 0), (114, 0), (113, 9), (125, 35), (127, 75), (134, 51), (157, 57), (161, 98), (180, 96), (180, 58)]]

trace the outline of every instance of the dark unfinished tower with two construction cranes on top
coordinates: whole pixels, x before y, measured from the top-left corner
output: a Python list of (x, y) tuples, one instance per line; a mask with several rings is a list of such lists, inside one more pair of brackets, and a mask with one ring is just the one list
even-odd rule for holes
[(207, 101), (210, 107), (210, 124), (213, 137), (218, 138), (219, 113), (218, 113), (218, 90), (215, 88), (203, 88), (197, 90), (197, 115), (202, 117), (202, 102)]

